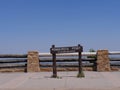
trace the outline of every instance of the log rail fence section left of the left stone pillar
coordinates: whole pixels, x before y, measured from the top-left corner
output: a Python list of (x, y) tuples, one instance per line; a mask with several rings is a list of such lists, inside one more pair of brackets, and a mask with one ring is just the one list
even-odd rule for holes
[(0, 55), (0, 71), (26, 71), (27, 54)]

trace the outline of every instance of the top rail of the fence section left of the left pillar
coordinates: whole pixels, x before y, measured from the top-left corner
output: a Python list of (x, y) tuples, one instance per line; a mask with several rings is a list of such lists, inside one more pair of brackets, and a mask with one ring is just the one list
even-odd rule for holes
[(1, 54), (0, 58), (27, 58), (27, 54)]

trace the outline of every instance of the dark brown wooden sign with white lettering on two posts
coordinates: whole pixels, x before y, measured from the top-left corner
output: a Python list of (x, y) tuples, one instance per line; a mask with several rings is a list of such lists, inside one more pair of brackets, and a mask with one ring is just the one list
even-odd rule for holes
[(78, 46), (71, 46), (71, 47), (55, 47), (55, 45), (52, 45), (50, 48), (50, 53), (52, 54), (53, 58), (53, 77), (57, 77), (57, 67), (56, 67), (56, 54), (58, 53), (74, 53), (78, 52), (78, 66), (79, 66), (79, 72), (77, 77), (84, 77), (84, 74), (82, 72), (82, 61), (81, 61), (81, 52), (83, 51), (83, 47), (78, 44)]

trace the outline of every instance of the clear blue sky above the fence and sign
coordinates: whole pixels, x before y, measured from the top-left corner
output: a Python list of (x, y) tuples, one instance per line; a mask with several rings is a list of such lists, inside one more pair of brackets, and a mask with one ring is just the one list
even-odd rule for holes
[(120, 50), (120, 0), (0, 0), (0, 53)]

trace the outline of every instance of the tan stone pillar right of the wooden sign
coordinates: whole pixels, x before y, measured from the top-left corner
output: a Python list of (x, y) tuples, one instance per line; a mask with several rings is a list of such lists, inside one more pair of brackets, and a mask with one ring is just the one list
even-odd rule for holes
[(97, 51), (97, 71), (111, 71), (108, 50)]

